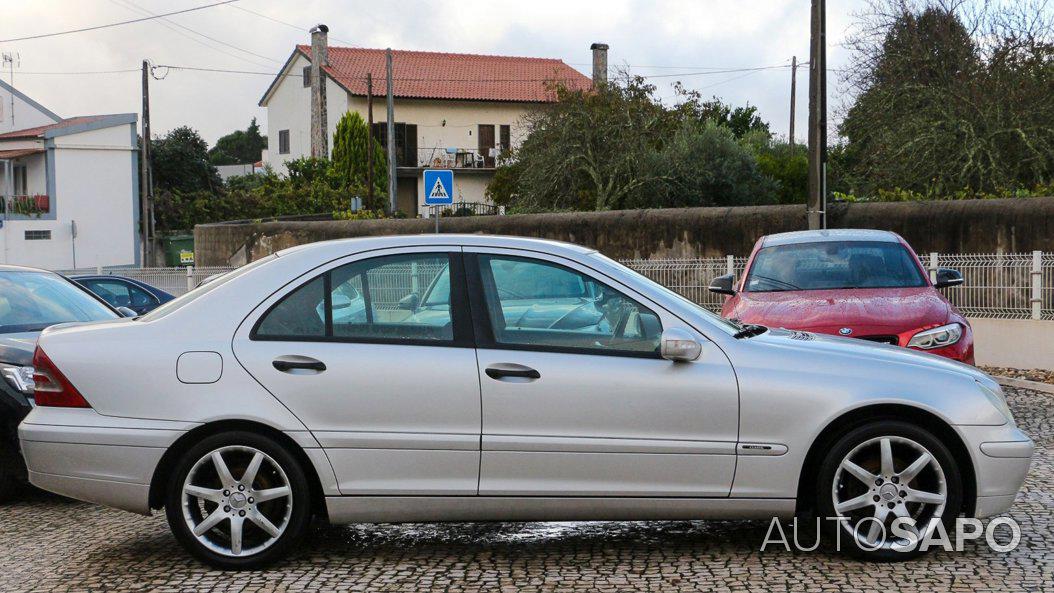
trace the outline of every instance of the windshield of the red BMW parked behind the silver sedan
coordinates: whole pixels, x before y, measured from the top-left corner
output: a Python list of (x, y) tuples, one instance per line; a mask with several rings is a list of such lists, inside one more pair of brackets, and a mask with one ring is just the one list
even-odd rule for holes
[(902, 289), (926, 285), (911, 252), (889, 241), (823, 241), (764, 248), (746, 292)]

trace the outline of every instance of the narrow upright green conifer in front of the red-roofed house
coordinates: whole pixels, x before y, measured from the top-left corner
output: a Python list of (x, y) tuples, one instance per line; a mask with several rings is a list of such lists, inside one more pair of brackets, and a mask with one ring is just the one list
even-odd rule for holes
[[(388, 158), (380, 142), (370, 134), (358, 112), (344, 114), (333, 134), (333, 175), (343, 189), (368, 186), (369, 153), (373, 151), (373, 194), (375, 199), (388, 192)], [(366, 196), (363, 196), (365, 199)], [(375, 204), (365, 204), (367, 209)]]

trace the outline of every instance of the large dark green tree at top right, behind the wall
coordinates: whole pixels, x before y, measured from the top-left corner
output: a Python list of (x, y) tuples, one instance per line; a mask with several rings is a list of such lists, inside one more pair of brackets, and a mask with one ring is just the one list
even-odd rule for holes
[(839, 132), (854, 190), (930, 196), (1054, 178), (1054, 16), (1041, 2), (875, 0)]

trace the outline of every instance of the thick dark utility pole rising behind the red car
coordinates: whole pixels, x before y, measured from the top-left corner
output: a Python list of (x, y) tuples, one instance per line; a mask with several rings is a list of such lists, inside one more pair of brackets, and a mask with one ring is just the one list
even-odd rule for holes
[(827, 228), (827, 39), (826, 0), (813, 0), (808, 48), (809, 229)]

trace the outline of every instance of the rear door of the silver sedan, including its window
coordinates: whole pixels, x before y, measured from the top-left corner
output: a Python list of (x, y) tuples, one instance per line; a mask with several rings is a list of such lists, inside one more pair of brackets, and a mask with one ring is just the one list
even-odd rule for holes
[(476, 493), (480, 381), (460, 251), (330, 264), (260, 310), (235, 354), (311, 430), (343, 494)]

